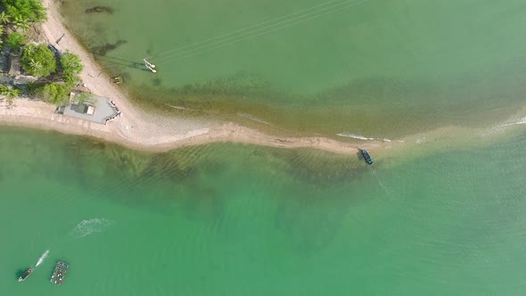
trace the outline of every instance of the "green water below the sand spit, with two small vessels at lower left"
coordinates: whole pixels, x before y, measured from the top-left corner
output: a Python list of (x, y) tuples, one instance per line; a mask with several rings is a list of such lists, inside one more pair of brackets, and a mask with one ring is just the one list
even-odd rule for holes
[[(0, 136), (2, 294), (525, 292), (523, 133), (374, 166), (239, 144), (145, 154)], [(48, 283), (57, 259), (71, 264), (62, 287)]]

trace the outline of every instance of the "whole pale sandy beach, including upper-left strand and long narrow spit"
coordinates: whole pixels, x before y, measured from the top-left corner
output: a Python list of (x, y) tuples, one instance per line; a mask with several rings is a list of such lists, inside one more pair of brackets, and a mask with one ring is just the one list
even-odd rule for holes
[[(45, 39), (62, 52), (69, 50), (71, 53), (78, 54), (84, 65), (84, 70), (80, 73), (83, 83), (87, 85), (91, 93), (115, 101), (122, 115), (108, 125), (102, 125), (56, 114), (54, 113), (55, 107), (51, 104), (18, 98), (14, 101), (15, 108), (0, 107), (0, 124), (2, 125), (54, 130), (77, 136), (92, 136), (127, 148), (148, 152), (165, 152), (180, 147), (214, 142), (257, 144), (278, 148), (315, 148), (344, 154), (358, 152), (358, 146), (368, 149), (381, 146), (382, 141), (349, 143), (320, 136), (272, 136), (257, 129), (242, 127), (234, 122), (172, 118), (141, 111), (131, 103), (125, 90), (111, 84), (110, 78), (102, 67), (66, 29), (53, 0), (43, 0), (43, 4), (47, 9), (47, 21), (41, 25)], [(61, 41), (57, 44), (55, 41), (59, 39)]]

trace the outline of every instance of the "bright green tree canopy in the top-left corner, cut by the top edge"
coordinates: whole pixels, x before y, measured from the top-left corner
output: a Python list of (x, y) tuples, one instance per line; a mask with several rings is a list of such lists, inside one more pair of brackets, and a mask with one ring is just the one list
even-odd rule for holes
[(45, 8), (40, 0), (0, 0), (9, 18), (15, 22), (45, 21)]

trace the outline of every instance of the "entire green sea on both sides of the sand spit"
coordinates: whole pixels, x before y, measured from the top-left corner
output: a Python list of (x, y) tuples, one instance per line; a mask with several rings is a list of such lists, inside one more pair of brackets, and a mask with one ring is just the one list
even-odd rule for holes
[[(111, 13), (85, 13), (96, 5)], [(136, 102), (393, 142), (368, 166), (0, 128), (0, 294), (526, 292), (526, 134), (496, 124), (524, 120), (522, 2), (63, 0), (62, 12)], [(159, 75), (137, 67), (144, 56)], [(467, 128), (414, 135), (451, 126)], [(48, 282), (57, 259), (71, 265), (62, 287)]]

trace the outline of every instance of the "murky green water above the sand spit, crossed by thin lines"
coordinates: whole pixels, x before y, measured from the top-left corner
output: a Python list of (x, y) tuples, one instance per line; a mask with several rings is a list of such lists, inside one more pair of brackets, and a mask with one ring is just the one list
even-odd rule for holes
[[(524, 102), (520, 0), (62, 3), (138, 102), (380, 138), (486, 126)], [(102, 4), (112, 14), (85, 13)], [(147, 56), (155, 75), (141, 65)]]

